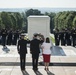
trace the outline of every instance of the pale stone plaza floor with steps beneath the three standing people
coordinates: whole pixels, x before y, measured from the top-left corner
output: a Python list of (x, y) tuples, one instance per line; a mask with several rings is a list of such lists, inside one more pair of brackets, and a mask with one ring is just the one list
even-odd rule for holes
[(20, 70), (20, 59), (17, 46), (7, 46), (2, 50), (0, 45), (0, 75), (76, 75), (76, 48), (72, 46), (54, 46), (52, 49), (49, 71), (44, 70), (43, 57), (39, 57), (39, 70), (32, 70), (30, 49), (26, 56), (26, 70)]

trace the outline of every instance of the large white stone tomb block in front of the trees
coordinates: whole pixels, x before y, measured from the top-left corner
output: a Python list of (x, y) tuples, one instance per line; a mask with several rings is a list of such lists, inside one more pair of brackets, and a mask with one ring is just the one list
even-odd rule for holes
[(29, 16), (28, 17), (28, 37), (32, 39), (34, 33), (41, 33), (44, 37), (50, 34), (49, 16)]

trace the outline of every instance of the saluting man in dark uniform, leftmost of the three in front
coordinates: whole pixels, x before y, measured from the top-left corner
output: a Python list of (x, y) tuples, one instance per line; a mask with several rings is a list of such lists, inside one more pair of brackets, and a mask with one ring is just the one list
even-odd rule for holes
[(17, 50), (18, 50), (18, 53), (20, 54), (20, 67), (21, 67), (21, 70), (25, 70), (27, 43), (30, 43), (30, 41), (29, 40), (24, 40), (24, 35), (21, 35), (21, 38), (18, 41), (18, 45), (17, 45)]

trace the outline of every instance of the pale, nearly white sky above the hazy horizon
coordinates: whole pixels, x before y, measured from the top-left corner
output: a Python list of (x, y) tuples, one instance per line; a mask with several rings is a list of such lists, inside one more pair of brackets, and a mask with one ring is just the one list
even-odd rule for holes
[(76, 0), (0, 0), (0, 8), (76, 8)]

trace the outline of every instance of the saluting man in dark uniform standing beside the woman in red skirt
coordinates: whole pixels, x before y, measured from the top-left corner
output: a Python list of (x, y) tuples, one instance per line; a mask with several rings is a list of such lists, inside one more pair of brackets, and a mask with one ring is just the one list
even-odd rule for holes
[(38, 40), (37, 36), (38, 35), (35, 34), (33, 40), (30, 42), (30, 51), (32, 53), (32, 65), (34, 71), (38, 70), (38, 58), (40, 53), (39, 46), (43, 42), (43, 40)]

